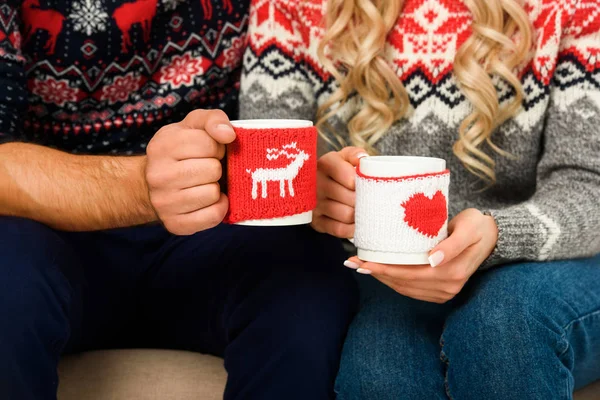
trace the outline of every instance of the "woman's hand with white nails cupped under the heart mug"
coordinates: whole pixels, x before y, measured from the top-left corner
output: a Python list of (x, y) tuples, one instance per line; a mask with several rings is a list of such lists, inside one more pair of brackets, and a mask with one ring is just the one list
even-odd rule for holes
[(363, 262), (357, 257), (344, 265), (358, 273), (373, 274), (404, 296), (445, 303), (462, 290), (498, 240), (494, 219), (473, 208), (454, 217), (448, 224), (448, 232), (448, 238), (431, 251), (431, 265), (384, 265)]

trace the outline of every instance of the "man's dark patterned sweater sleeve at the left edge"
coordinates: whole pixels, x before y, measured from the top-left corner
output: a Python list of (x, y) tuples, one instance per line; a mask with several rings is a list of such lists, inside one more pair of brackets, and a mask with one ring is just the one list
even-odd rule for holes
[(27, 107), (25, 58), (21, 54), (19, 2), (3, 3), (0, 21), (0, 144), (22, 139)]

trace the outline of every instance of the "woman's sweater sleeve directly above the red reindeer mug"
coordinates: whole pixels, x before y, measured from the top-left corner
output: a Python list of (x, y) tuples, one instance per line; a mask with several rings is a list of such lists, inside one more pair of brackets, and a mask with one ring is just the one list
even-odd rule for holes
[(308, 67), (309, 28), (297, 0), (253, 0), (240, 88), (240, 118), (314, 120), (314, 72)]

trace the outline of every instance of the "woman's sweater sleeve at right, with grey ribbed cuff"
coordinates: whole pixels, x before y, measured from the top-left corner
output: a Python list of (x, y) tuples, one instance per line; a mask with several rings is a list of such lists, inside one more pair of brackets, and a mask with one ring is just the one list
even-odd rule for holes
[(536, 192), (486, 211), (499, 237), (482, 268), (600, 252), (600, 17), (590, 19), (584, 3), (591, 4), (581, 0), (563, 29)]

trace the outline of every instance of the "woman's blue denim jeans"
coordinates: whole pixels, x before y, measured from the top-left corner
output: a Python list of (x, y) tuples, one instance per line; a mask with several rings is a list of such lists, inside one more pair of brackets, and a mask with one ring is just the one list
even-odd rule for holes
[(443, 305), (358, 279), (339, 400), (572, 399), (600, 379), (600, 256), (478, 272)]

